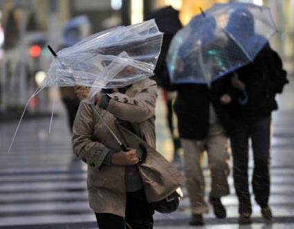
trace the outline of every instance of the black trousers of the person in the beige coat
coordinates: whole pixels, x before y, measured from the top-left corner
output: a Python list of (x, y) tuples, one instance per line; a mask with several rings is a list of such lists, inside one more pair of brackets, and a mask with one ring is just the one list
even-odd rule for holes
[(149, 208), (144, 190), (127, 192), (126, 217), (95, 213), (100, 229), (151, 229), (154, 210)]

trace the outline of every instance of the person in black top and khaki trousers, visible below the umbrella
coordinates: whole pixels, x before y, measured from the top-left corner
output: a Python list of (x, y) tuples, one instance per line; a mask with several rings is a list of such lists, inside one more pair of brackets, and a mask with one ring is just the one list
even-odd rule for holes
[(187, 191), (192, 206), (190, 225), (203, 225), (203, 214), (208, 212), (204, 201), (205, 182), (201, 170), (201, 155), (208, 152), (212, 177), (210, 203), (218, 218), (226, 217), (221, 196), (230, 194), (228, 186), (229, 154), (227, 137), (219, 122), (214, 101), (219, 98), (222, 84), (178, 84), (174, 110), (178, 117), (178, 131), (184, 150)]

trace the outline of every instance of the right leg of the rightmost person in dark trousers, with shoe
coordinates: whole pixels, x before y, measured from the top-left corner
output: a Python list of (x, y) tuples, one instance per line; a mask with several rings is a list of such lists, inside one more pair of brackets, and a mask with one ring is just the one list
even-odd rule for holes
[(270, 196), (270, 116), (257, 120), (250, 127), (254, 154), (252, 187), (255, 200), (266, 219), (272, 219), (268, 199)]

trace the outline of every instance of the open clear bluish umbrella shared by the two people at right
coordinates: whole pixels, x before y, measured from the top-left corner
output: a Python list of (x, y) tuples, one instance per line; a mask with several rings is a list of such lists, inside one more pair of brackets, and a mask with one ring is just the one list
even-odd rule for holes
[(174, 84), (210, 84), (252, 62), (276, 32), (269, 8), (216, 4), (174, 37), (167, 55), (169, 76)]

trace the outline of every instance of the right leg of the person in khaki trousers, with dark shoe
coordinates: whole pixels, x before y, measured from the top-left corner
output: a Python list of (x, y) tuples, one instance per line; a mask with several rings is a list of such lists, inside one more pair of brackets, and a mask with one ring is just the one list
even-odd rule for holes
[(208, 158), (212, 177), (212, 189), (210, 203), (214, 208), (214, 214), (218, 218), (226, 218), (226, 209), (221, 203), (221, 196), (230, 194), (228, 175), (230, 168), (228, 160), (228, 138), (224, 134), (223, 127), (219, 124), (210, 126), (208, 136)]

